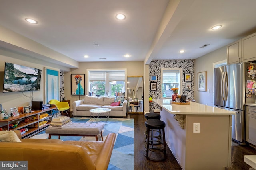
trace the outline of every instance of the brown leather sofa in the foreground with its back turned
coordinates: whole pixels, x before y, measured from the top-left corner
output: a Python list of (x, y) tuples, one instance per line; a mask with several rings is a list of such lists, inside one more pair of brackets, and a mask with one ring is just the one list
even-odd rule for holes
[[(15, 131), (20, 137), (20, 131)], [(0, 142), (0, 160), (28, 161), (28, 170), (106, 170), (116, 135), (105, 141), (62, 141), (60, 139), (21, 139)]]

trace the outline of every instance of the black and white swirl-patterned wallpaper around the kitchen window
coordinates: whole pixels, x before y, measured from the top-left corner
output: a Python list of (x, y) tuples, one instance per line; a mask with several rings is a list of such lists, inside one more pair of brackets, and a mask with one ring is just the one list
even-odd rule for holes
[[(187, 95), (187, 98), (194, 98), (194, 60), (152, 60), (149, 64), (149, 80), (151, 75), (157, 75), (157, 90), (149, 90), (149, 96), (153, 99), (161, 98), (161, 68), (181, 68), (182, 69), (182, 91), (180, 94)], [(185, 74), (191, 74), (191, 90), (185, 90)], [(150, 83), (149, 83), (150, 86)], [(149, 88), (150, 89), (150, 88)], [(150, 110), (159, 109), (152, 103), (149, 106)]]

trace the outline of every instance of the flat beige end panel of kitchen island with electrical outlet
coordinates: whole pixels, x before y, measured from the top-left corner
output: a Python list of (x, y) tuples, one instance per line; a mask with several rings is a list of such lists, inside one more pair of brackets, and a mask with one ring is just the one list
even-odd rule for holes
[[(200, 123), (200, 133), (193, 133)], [(186, 170), (222, 170), (231, 164), (231, 115), (186, 115)]]

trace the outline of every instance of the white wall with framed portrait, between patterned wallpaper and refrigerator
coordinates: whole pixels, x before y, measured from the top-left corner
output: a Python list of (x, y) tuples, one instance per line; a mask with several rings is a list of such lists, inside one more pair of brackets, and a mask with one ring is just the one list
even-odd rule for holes
[[(218, 61), (225, 60), (227, 58), (226, 47), (222, 47), (217, 49), (211, 53), (208, 53), (202, 57), (195, 59), (194, 70), (195, 70), (195, 78), (194, 78), (194, 99), (197, 103), (208, 104), (209, 106), (213, 106), (213, 63)], [(206, 92), (198, 91), (198, 72), (206, 71)], [(209, 93), (207, 90), (209, 89)]]

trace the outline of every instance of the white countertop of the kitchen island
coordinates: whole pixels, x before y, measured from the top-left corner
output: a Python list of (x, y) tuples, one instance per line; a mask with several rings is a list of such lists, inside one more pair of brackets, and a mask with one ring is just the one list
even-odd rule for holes
[(234, 111), (228, 111), (217, 107), (207, 106), (196, 102), (190, 105), (170, 104), (171, 99), (153, 99), (153, 101), (166, 109), (171, 114), (180, 115), (234, 115)]

